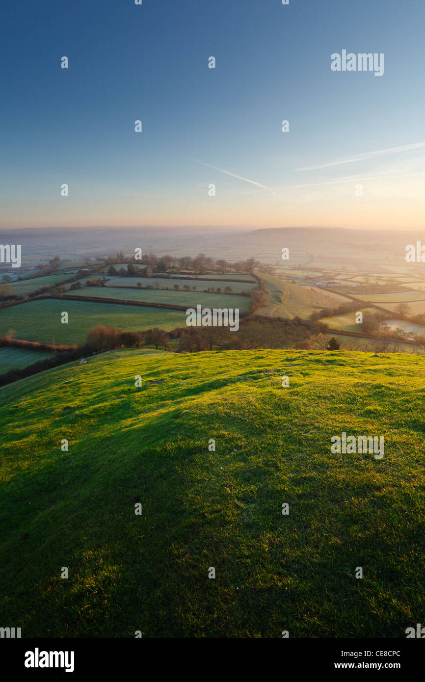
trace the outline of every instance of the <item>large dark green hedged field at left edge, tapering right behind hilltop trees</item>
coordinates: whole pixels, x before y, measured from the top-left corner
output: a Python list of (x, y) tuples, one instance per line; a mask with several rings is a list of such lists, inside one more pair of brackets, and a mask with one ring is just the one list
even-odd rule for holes
[[(93, 287), (95, 288), (95, 287)], [(244, 299), (242, 299), (244, 300)], [(61, 312), (68, 312), (68, 325), (61, 323)], [(40, 343), (81, 344), (91, 327), (108, 325), (123, 331), (160, 327), (174, 329), (186, 325), (184, 310), (160, 310), (115, 303), (91, 303), (47, 299), (31, 301), (0, 310), (0, 336), (15, 329), (14, 338)]]

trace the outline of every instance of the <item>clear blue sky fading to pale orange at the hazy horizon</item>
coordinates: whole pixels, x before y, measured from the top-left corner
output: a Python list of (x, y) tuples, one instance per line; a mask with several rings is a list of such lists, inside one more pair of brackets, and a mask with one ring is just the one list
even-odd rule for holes
[(3, 0), (0, 229), (422, 228), (424, 29), (417, 0)]

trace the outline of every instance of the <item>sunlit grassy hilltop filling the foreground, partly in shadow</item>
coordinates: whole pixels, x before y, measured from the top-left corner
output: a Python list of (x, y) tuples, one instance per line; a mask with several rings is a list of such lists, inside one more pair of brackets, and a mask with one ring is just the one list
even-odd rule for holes
[[(114, 351), (4, 387), (1, 623), (23, 637), (404, 638), (425, 613), (424, 366)], [(383, 459), (331, 454), (342, 431), (385, 436)]]

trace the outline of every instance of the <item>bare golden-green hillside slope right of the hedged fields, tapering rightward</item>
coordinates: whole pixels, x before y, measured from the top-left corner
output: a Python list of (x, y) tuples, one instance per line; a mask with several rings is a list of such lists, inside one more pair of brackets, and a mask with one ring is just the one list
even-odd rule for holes
[(335, 308), (349, 301), (345, 296), (322, 291), (315, 286), (291, 284), (263, 273), (260, 276), (270, 294), (259, 310), (262, 315), (290, 319), (299, 316), (306, 319), (315, 310)]

